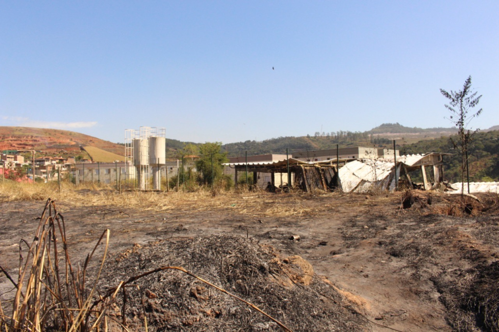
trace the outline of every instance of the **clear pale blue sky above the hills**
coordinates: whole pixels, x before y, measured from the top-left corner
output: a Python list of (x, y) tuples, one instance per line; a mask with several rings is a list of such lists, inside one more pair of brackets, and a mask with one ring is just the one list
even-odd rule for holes
[(499, 125), (499, 1), (0, 1), (0, 126), (232, 143)]

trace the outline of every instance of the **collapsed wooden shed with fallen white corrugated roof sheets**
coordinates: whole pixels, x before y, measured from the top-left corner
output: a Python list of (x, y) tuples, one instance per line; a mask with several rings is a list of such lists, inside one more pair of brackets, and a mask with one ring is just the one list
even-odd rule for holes
[[(392, 156), (383, 159), (330, 158), (326, 161), (310, 162), (289, 158), (276, 162), (238, 162), (227, 163), (235, 171), (238, 182), (238, 172), (252, 172), (250, 183), (276, 187), (279, 183), (276, 174), (281, 178), (280, 186), (288, 185), (303, 191), (314, 189), (335, 190), (345, 192), (366, 192), (372, 189), (395, 190), (404, 183), (414, 188), (411, 173), (419, 170), (423, 184), (421, 188), (429, 190), (437, 188), (443, 182), (443, 153), (428, 153), (424, 155)], [(294, 154), (293, 154), (294, 156)], [(429, 168), (429, 169), (428, 169)], [(429, 170), (429, 171), (428, 171)], [(288, 172), (290, 181), (288, 181)], [(427, 172), (431, 176), (427, 176)], [(259, 173), (269, 173), (268, 182), (261, 180)], [(284, 181), (282, 180), (284, 178)], [(417, 186), (417, 185), (416, 185)]]

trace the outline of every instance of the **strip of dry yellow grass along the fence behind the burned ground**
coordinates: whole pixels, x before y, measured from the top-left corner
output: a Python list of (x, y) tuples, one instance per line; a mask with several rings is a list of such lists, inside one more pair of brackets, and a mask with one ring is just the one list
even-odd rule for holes
[[(312, 215), (316, 208), (304, 205), (304, 193), (267, 193), (264, 191), (222, 190), (200, 187), (191, 192), (123, 191), (114, 186), (63, 183), (58, 192), (57, 183), (0, 183), (0, 202), (44, 200), (47, 197), (72, 206), (106, 206), (140, 208), (144, 211), (217, 211), (230, 210), (246, 216), (289, 217)], [(331, 195), (331, 194), (329, 194)]]

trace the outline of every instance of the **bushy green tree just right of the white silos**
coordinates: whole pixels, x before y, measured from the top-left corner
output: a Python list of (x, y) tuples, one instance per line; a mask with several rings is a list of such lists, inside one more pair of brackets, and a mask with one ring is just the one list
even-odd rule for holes
[[(222, 142), (205, 143), (199, 146), (199, 160), (196, 161), (196, 168), (201, 173), (201, 181), (205, 184), (213, 184), (223, 175), (222, 163), (227, 163), (227, 152), (221, 152)], [(213, 160), (213, 167), (212, 167)], [(212, 173), (213, 169), (213, 173)]]

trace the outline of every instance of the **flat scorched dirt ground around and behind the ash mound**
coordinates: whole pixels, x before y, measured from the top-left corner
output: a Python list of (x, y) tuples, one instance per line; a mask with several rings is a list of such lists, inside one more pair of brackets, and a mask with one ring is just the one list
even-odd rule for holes
[[(268, 198), (275, 199), (275, 195)], [(243, 198), (241, 198), (242, 200)], [(281, 195), (279, 204), (288, 196)], [(438, 203), (438, 198), (434, 199)], [(290, 200), (289, 204), (295, 204)], [(238, 204), (236, 201), (233, 204)], [(222, 232), (256, 238), (285, 255), (301, 255), (358, 304), (378, 325), (399, 331), (450, 331), (446, 308), (432, 281), (442, 271), (490, 262), (498, 257), (499, 218), (456, 218), (424, 208), (399, 210), (400, 194), (307, 196), (300, 201), (312, 215), (254, 217), (231, 210), (143, 212), (113, 206), (75, 207), (58, 203), (70, 250), (84, 259), (105, 228), (111, 230), (111, 255), (135, 243)], [(1, 203), (0, 264), (12, 275), (19, 239), (31, 240), (44, 202)], [(496, 225), (491, 228), (492, 224)], [(487, 230), (489, 236), (484, 236)], [(291, 240), (291, 236), (299, 240)], [(496, 241), (496, 242), (495, 242)], [(111, 256), (113, 257), (113, 256)], [(0, 294), (12, 289), (0, 276)], [(371, 324), (372, 331), (388, 331)]]

